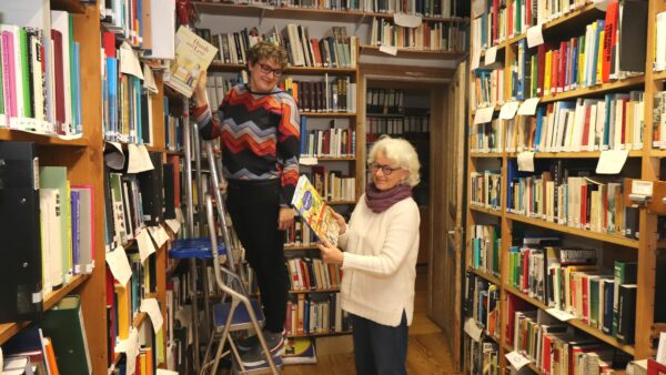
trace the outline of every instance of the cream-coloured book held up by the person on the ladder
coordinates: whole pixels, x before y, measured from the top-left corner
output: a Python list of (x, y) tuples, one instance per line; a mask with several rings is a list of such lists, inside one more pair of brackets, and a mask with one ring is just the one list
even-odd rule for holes
[(175, 33), (175, 58), (164, 74), (164, 83), (186, 98), (192, 97), (201, 72), (208, 69), (215, 53), (213, 44), (181, 26)]

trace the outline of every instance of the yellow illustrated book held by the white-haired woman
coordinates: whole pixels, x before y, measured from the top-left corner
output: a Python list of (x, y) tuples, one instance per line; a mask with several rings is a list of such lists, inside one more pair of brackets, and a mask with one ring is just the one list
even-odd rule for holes
[(340, 227), (333, 217), (333, 209), (324, 202), (304, 175), (299, 178), (292, 206), (320, 240), (326, 240), (334, 246), (337, 245)]

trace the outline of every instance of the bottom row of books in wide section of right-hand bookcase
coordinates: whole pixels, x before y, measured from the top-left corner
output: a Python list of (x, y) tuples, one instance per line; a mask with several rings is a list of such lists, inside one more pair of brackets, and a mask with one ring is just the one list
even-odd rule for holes
[[(529, 310), (512, 296), (511, 344), (545, 374), (612, 374), (630, 359), (596, 338), (577, 334), (544, 311)], [(514, 301), (512, 301), (514, 300)], [(634, 322), (632, 322), (634, 323)]]

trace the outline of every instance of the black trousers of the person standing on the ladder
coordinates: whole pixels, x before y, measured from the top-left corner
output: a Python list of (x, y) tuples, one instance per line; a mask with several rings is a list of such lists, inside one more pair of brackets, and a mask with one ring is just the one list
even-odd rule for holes
[(286, 317), (289, 274), (284, 263), (284, 232), (278, 230), (280, 181), (230, 180), (226, 207), (256, 273), (265, 328), (281, 333)]

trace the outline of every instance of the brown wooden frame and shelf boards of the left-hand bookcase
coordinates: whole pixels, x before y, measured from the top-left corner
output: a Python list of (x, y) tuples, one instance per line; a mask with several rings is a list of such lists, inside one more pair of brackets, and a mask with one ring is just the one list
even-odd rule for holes
[[(38, 148), (40, 165), (67, 168), (67, 179), (71, 185), (91, 185), (93, 220), (91, 222), (93, 237), (94, 268), (91, 273), (74, 275), (67, 284), (47, 293), (43, 296), (43, 310), (53, 308), (64, 296), (75, 293), (80, 295), (81, 311), (84, 316), (85, 336), (88, 341), (89, 356), (91, 358), (91, 373), (110, 373), (109, 364), (118, 361), (110, 357), (108, 347), (107, 326), (107, 263), (104, 236), (104, 142), (102, 133), (102, 71), (100, 65), (101, 32), (104, 26), (100, 21), (100, 8), (97, 3), (84, 3), (79, 0), (51, 0), (51, 1), (21, 1), (3, 9), (2, 22), (17, 24), (19, 27), (37, 27), (50, 29), (50, 10), (61, 10), (71, 13), (73, 40), (80, 44), (80, 112), (81, 112), (81, 136), (65, 140), (57, 136), (32, 134), (24, 131), (2, 128), (0, 129), (0, 142), (32, 142)], [(30, 20), (23, 19), (24, 14)], [(37, 24), (36, 24), (37, 22)], [(159, 115), (162, 110), (161, 78), (157, 77), (159, 94), (152, 98), (153, 116), (152, 126), (154, 142), (149, 149), (151, 151), (164, 151), (163, 121)], [(73, 89), (73, 88), (72, 88)], [(147, 124), (149, 125), (149, 124)], [(127, 148), (125, 148), (127, 150)], [(6, 213), (2, 213), (6, 214)], [(162, 315), (165, 316), (165, 254), (167, 245), (155, 251), (154, 257), (157, 275), (157, 293), (147, 295), (159, 301)], [(133, 320), (133, 326), (139, 327), (148, 321), (145, 314), (138, 314)], [(0, 324), (0, 345), (7, 343), (14, 335), (27, 327), (30, 322), (12, 322)], [(36, 322), (39, 325), (39, 322)], [(152, 328), (150, 328), (152, 330)], [(110, 338), (115, 341), (115, 337)], [(153, 343), (153, 349), (157, 351)], [(162, 347), (165, 347), (165, 343)], [(153, 352), (155, 353), (155, 352)], [(165, 357), (165, 353), (159, 356)], [(164, 363), (159, 364), (162, 367)], [(0, 369), (1, 372), (1, 369)]]

